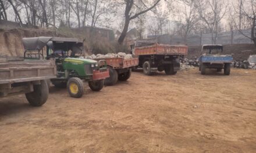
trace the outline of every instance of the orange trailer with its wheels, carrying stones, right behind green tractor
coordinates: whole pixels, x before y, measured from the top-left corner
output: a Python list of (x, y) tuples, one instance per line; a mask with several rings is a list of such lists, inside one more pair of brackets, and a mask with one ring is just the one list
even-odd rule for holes
[(108, 65), (109, 78), (104, 81), (106, 86), (115, 85), (118, 80), (127, 81), (131, 76), (131, 68), (138, 65), (138, 58), (108, 57), (94, 60), (105, 60)]

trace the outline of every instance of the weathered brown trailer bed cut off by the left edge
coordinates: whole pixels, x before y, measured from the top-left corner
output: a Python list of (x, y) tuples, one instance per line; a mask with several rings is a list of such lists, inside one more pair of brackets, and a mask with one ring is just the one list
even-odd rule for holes
[(0, 84), (56, 78), (54, 60), (19, 60), (0, 62)]

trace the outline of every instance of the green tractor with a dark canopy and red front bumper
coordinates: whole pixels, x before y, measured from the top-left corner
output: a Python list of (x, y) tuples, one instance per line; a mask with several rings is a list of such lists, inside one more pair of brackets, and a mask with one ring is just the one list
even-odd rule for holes
[(83, 42), (76, 38), (23, 38), (23, 45), (27, 59), (32, 55), (26, 51), (36, 50), (33, 55), (37, 54), (37, 58), (44, 58), (46, 52), (47, 60), (55, 60), (57, 77), (51, 82), (56, 88), (67, 88), (71, 97), (83, 96), (84, 81), (88, 81), (91, 90), (99, 91), (104, 86), (104, 79), (109, 77), (106, 61), (84, 59)]

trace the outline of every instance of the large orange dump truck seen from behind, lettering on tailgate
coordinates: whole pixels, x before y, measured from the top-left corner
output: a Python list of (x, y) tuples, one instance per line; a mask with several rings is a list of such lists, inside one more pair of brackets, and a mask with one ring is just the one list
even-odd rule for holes
[(161, 45), (154, 41), (136, 41), (131, 45), (131, 50), (139, 60), (138, 67), (143, 68), (145, 75), (157, 71), (174, 75), (180, 69), (180, 57), (187, 55), (187, 46)]

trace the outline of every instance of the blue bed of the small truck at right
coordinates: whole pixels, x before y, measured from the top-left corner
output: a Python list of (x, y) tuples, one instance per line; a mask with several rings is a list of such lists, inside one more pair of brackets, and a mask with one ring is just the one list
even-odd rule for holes
[(204, 55), (200, 57), (202, 63), (231, 63), (233, 60), (232, 55)]

